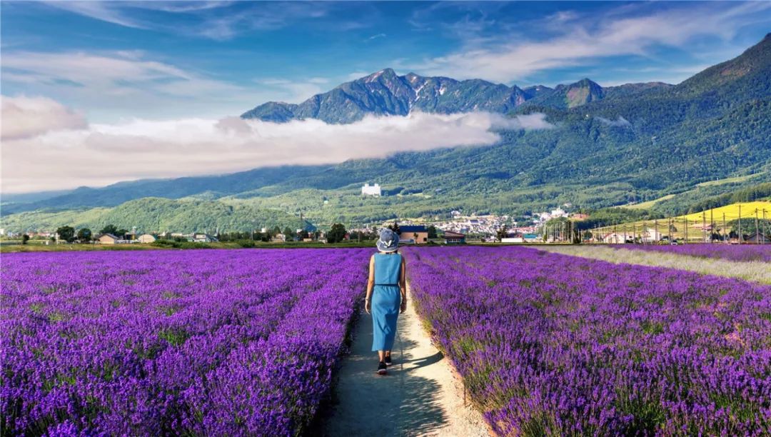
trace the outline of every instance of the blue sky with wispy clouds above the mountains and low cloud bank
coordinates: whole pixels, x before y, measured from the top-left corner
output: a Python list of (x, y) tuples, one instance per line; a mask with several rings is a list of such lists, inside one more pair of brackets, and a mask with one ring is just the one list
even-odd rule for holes
[(679, 82), (769, 30), (771, 2), (2, 2), (2, 93), (114, 122), (237, 115), (389, 66)]

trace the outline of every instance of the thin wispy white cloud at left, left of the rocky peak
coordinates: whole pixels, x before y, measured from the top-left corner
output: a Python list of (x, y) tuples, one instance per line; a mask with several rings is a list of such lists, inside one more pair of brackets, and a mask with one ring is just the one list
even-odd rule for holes
[(316, 83), (294, 91), (291, 86), (242, 86), (148, 59), (141, 51), (3, 52), (2, 82), (16, 84), (27, 93), (74, 102), (89, 110), (92, 121), (114, 120), (126, 113), (141, 118), (190, 113), (222, 116), (319, 89)]

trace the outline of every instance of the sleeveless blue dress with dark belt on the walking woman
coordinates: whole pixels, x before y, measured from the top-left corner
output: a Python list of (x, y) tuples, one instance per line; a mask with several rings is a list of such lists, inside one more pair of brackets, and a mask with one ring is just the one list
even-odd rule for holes
[(372, 289), (372, 351), (390, 351), (399, 318), (399, 277), (402, 255), (375, 254), (375, 287)]

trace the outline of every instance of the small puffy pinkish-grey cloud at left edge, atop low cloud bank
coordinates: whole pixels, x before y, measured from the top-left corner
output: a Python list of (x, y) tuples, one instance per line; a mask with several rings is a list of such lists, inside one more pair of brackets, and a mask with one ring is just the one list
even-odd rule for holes
[(39, 136), (52, 130), (85, 129), (82, 114), (45, 97), (2, 96), (2, 140), (19, 140)]

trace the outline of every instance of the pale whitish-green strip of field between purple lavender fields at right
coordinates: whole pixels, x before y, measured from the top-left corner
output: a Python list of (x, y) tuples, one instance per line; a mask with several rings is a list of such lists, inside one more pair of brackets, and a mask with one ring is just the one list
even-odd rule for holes
[[(682, 246), (667, 247), (691, 247), (692, 244)], [(717, 246), (717, 245), (715, 245)], [(700, 274), (712, 274), (724, 277), (736, 277), (746, 281), (755, 281), (763, 284), (771, 284), (771, 264), (760, 261), (732, 261), (726, 259), (730, 256), (727, 245), (725, 257), (695, 257), (689, 254), (680, 254), (675, 250), (635, 250), (636, 245), (632, 244), (611, 244), (611, 245), (544, 245), (539, 247), (547, 252), (557, 254), (572, 255), (575, 257), (591, 258), (595, 260), (608, 261), (614, 264), (638, 264), (651, 267), (668, 267), (684, 271), (694, 271)], [(736, 249), (737, 251), (739, 249)], [(747, 250), (749, 254), (732, 253), (734, 257), (747, 259), (754, 257), (758, 251), (763, 254), (763, 249), (742, 245), (741, 250)], [(766, 249), (767, 250), (767, 249)], [(715, 249), (715, 252), (719, 249)]]

